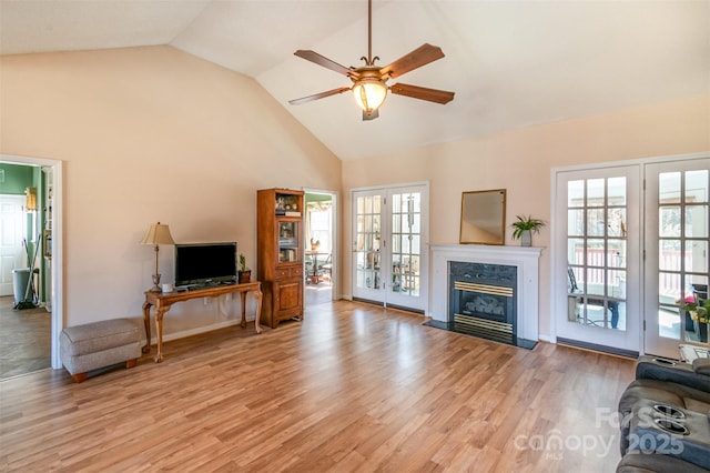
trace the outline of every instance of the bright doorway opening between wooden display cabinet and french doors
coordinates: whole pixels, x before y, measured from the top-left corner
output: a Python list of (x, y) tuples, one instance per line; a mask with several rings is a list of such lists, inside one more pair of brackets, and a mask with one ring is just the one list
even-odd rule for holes
[(304, 305), (331, 302), (337, 286), (335, 222), (337, 194), (305, 190)]

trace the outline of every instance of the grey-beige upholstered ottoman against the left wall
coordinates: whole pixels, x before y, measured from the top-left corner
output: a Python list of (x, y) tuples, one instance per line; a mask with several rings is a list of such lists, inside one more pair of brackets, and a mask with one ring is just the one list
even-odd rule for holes
[(143, 326), (130, 319), (111, 319), (64, 329), (59, 338), (62, 364), (81, 383), (89, 371), (141, 358)]

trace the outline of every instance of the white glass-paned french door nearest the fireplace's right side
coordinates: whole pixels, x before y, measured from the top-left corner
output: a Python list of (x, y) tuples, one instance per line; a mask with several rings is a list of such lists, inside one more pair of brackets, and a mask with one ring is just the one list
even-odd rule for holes
[(639, 174), (638, 165), (557, 174), (558, 340), (639, 352)]

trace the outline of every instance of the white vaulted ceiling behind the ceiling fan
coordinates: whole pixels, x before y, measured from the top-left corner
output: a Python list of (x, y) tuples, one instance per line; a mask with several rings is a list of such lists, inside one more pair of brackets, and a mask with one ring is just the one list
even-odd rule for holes
[[(0, 53), (170, 44), (256, 79), (341, 159), (403, 151), (710, 91), (709, 0), (374, 0), (373, 56), (424, 42), (446, 58), (396, 81), (456, 92), (390, 95), (363, 122), (351, 85), (293, 56), (367, 54), (365, 0), (0, 0)], [(390, 83), (396, 82), (390, 81)]]

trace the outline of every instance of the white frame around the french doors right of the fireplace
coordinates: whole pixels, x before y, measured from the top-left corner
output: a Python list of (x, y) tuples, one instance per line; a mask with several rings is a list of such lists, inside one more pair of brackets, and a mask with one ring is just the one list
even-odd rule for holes
[[(666, 157), (650, 157), (650, 158), (640, 158), (640, 159), (633, 159), (633, 160), (622, 160), (622, 161), (609, 161), (609, 162), (599, 162), (599, 163), (588, 163), (588, 164), (576, 164), (576, 165), (571, 165), (571, 167), (557, 167), (557, 168), (551, 168), (550, 169), (550, 183), (551, 183), (551, 189), (550, 189), (550, 215), (555, 215), (556, 213), (556, 203), (557, 203), (557, 195), (559, 190), (557, 189), (557, 174), (560, 172), (568, 172), (568, 171), (585, 171), (585, 170), (597, 170), (597, 169), (605, 169), (605, 168), (617, 168), (617, 167), (628, 167), (628, 165), (638, 165), (640, 168), (640, 175), (641, 179), (645, 178), (646, 175), (646, 165), (647, 164), (656, 164), (656, 163), (663, 163), (663, 162), (672, 162), (672, 161), (686, 161), (686, 160), (694, 160), (694, 159), (707, 159), (710, 158), (710, 150), (709, 151), (703, 151), (703, 152), (696, 152), (696, 153), (686, 153), (686, 154), (671, 154), (671, 155), (666, 155)], [(643, 184), (641, 185), (643, 188)], [(646, 202), (646, 193), (642, 192), (641, 199), (639, 201), (639, 212), (640, 212), (640, 235), (641, 235), (641, 252), (646, 251), (646, 246), (645, 246), (645, 239), (646, 239), (646, 213), (645, 213), (645, 209), (647, 205)], [(562, 270), (560, 270), (559, 264), (557, 264), (556, 262), (558, 261), (558, 259), (560, 258), (558, 255), (558, 253), (560, 251), (565, 251), (566, 249), (566, 243), (564, 241), (560, 241), (559, 236), (557, 236), (558, 234), (558, 225), (560, 223), (556, 222), (556, 219), (551, 219), (550, 222), (550, 234), (551, 234), (551, 240), (550, 240), (550, 342), (551, 343), (557, 343), (557, 311), (560, 310), (560, 308), (566, 308), (566, 303), (565, 303), (565, 299), (567, 298), (567, 291), (564, 290), (564, 288), (566, 288), (566, 285), (564, 285), (562, 288), (557, 288), (558, 284), (555, 284), (556, 281), (560, 281), (560, 280), (566, 280), (567, 279), (567, 270), (565, 268), (562, 268)], [(566, 254), (566, 253), (562, 253)], [(641, 259), (640, 261), (640, 268), (639, 268), (639, 281), (638, 284), (640, 284), (639, 288), (639, 293), (640, 293), (640, 305), (639, 305), (639, 310), (641, 311), (641, 314), (646, 314), (646, 299), (647, 299), (647, 294), (646, 294), (646, 289), (645, 289), (645, 281), (647, 280), (647, 268), (646, 268), (646, 262), (643, 261), (643, 259)], [(562, 299), (560, 299), (562, 298)], [(562, 302), (560, 302), (560, 300)], [(639, 333), (638, 333), (638, 339), (639, 339), (639, 354), (645, 354), (646, 353), (646, 336), (645, 336), (645, 330), (643, 330), (643, 325), (646, 322), (646, 316), (641, 318), (641, 323), (639, 326)]]

